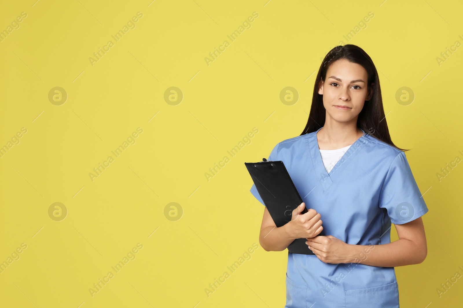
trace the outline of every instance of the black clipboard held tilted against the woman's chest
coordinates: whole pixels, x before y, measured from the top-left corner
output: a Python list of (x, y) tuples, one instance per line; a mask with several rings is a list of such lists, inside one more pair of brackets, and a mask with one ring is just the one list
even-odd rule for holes
[[(281, 227), (290, 222), (293, 210), (303, 201), (283, 162), (263, 158), (263, 161), (245, 162), (244, 165), (275, 222), (275, 226)], [(302, 211), (302, 214), (304, 213), (307, 213), (307, 207)], [(295, 239), (289, 244), (288, 251), (315, 255), (307, 246), (305, 238)]]

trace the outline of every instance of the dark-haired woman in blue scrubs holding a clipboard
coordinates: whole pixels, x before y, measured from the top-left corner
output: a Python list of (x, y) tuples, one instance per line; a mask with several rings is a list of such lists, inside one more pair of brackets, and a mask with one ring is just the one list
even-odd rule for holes
[[(280, 228), (264, 208), (259, 242), (283, 251), (306, 238), (315, 253), (288, 253), (286, 308), (399, 307), (394, 267), (427, 254), (421, 216), (428, 209), (404, 151), (389, 136), (369, 55), (351, 44), (332, 49), (305, 129), (268, 158), (284, 162), (304, 202)], [(250, 192), (263, 204), (255, 185)], [(399, 236), (392, 243), (391, 223)]]

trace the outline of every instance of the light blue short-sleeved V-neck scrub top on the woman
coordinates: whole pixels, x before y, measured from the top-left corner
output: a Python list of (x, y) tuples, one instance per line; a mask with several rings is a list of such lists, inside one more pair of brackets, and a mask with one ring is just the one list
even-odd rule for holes
[[(307, 209), (320, 213), (322, 234), (354, 245), (387, 244), (391, 222), (410, 222), (428, 211), (403, 151), (362, 129), (363, 136), (327, 173), (319, 130), (279, 142), (268, 160), (283, 161)], [(250, 192), (264, 204), (256, 185)], [(367, 253), (358, 256), (366, 258)], [(397, 308), (394, 267), (329, 264), (288, 252), (285, 307)]]

